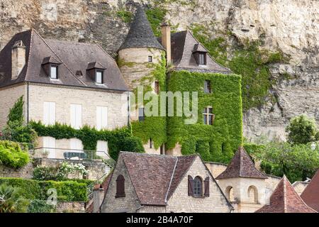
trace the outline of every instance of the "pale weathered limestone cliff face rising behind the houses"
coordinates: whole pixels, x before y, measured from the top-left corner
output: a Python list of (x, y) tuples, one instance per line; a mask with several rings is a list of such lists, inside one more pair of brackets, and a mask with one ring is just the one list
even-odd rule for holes
[(234, 45), (262, 40), (260, 48), (289, 56), (286, 62), (269, 66), (274, 79), (269, 93), (276, 101), (266, 98), (263, 106), (245, 112), (247, 138), (284, 139), (289, 119), (302, 113), (319, 122), (319, 1), (315, 0), (2, 0), (0, 49), (14, 33), (33, 27), (45, 38), (100, 43), (115, 56), (129, 26), (119, 12), (133, 12), (140, 3), (167, 9), (166, 19), (177, 31), (201, 24), (212, 39), (231, 33)]

